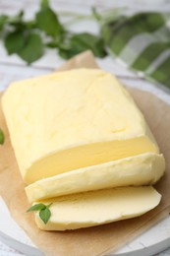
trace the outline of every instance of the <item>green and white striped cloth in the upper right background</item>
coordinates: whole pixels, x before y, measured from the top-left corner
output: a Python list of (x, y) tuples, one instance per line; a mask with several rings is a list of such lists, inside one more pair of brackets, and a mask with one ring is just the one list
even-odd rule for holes
[(104, 24), (101, 32), (110, 54), (148, 80), (170, 88), (170, 14), (121, 16)]

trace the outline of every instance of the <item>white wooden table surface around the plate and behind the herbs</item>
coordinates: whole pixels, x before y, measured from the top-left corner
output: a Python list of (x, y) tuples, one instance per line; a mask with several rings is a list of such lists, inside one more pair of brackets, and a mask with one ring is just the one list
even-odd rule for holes
[[(26, 18), (30, 18), (37, 10), (38, 3), (38, 0), (0, 0), (0, 14), (15, 14), (19, 10), (24, 9), (26, 10)], [(73, 11), (78, 12), (78, 14), (89, 14), (91, 6), (96, 6), (99, 10), (113, 7), (128, 7), (126, 8), (126, 12), (131, 13), (146, 10), (170, 10), (169, 0), (51, 0), (51, 4), (59, 13), (62, 11)], [(91, 21), (82, 22), (73, 26), (71, 29), (75, 32), (84, 31), (96, 33), (98, 31), (97, 25)], [(160, 89), (157, 89), (154, 85), (145, 82), (136, 74), (120, 66), (114, 59), (106, 57), (105, 59), (97, 59), (96, 61), (102, 69), (114, 73), (125, 85), (150, 91), (170, 103), (170, 95), (166, 94), (164, 91), (160, 91)], [(2, 43), (0, 43), (0, 90), (4, 90), (12, 81), (49, 73), (59, 67), (63, 62), (64, 61), (57, 56), (56, 50), (48, 50), (40, 60), (36, 61), (31, 66), (27, 66), (24, 61), (19, 59), (16, 55), (9, 57)], [(23, 254), (0, 241), (0, 256), (12, 255), (19, 256)], [(170, 249), (159, 255), (170, 255)]]

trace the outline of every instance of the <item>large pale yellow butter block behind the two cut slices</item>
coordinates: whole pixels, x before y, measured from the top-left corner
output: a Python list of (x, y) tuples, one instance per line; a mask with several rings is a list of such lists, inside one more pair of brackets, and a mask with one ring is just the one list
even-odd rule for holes
[(141, 111), (101, 70), (11, 84), (2, 106), (26, 183), (89, 165), (158, 153)]

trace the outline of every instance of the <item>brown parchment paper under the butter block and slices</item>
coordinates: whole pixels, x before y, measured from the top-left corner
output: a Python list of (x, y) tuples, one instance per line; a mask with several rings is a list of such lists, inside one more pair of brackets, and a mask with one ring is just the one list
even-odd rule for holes
[[(97, 68), (90, 52), (78, 55), (62, 67)], [(61, 68), (60, 68), (61, 69)], [(114, 72), (114, 71), (113, 71)], [(130, 89), (129, 89), (130, 90)], [(149, 93), (130, 90), (166, 159), (166, 174), (156, 185), (162, 194), (158, 207), (140, 218), (104, 224), (74, 231), (42, 231), (34, 224), (33, 214), (26, 213), (29, 204), (25, 184), (10, 144), (9, 134), (0, 109), (0, 127), (5, 131), (5, 145), (0, 147), (0, 194), (14, 220), (28, 233), (32, 242), (48, 256), (96, 256), (118, 249), (170, 212), (170, 105)]]

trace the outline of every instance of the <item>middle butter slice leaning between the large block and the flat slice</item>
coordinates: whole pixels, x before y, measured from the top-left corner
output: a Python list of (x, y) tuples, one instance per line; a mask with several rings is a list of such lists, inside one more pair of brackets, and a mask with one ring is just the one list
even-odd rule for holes
[(41, 179), (26, 187), (30, 202), (68, 194), (155, 183), (165, 169), (162, 155), (145, 153)]

